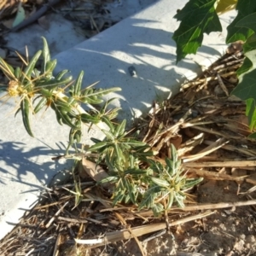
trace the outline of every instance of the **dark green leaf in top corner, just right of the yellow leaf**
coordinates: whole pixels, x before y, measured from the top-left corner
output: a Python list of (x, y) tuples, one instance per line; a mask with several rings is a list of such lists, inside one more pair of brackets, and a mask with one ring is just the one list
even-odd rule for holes
[(227, 44), (238, 40), (246, 42), (247, 38), (253, 34), (253, 31), (248, 26), (241, 26), (241, 20), (256, 11), (256, 1), (239, 0), (237, 2), (236, 9), (238, 10), (238, 14), (227, 27)]

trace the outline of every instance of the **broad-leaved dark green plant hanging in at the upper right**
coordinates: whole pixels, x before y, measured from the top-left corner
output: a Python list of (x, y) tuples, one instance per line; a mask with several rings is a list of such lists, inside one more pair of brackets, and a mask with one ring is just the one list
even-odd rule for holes
[[(203, 34), (221, 32), (222, 26), (218, 15), (231, 9), (237, 15), (227, 27), (226, 44), (241, 40), (246, 56), (237, 75), (239, 84), (232, 94), (247, 104), (250, 129), (256, 127), (256, 1), (247, 0), (189, 0), (183, 9), (174, 16), (181, 21), (173, 34), (177, 44), (177, 62), (188, 54), (195, 54), (203, 41)], [(250, 137), (256, 137), (256, 133)]]

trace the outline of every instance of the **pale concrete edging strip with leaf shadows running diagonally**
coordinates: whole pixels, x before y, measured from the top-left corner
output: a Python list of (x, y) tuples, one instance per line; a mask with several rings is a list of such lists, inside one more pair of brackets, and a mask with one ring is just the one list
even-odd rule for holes
[[(121, 100), (114, 103), (123, 108), (120, 119), (131, 121), (147, 113), (154, 99), (172, 96), (184, 79), (195, 76), (199, 71), (195, 63), (207, 66), (224, 53), (225, 27), (234, 13), (221, 17), (223, 33), (206, 36), (199, 54), (176, 66), (172, 33), (178, 24), (172, 17), (186, 2), (154, 3), (96, 37), (56, 55), (58, 68), (70, 69), (74, 77), (84, 70), (84, 86), (100, 81), (100, 87), (121, 87), (118, 95)], [(131, 77), (130, 66), (136, 68), (137, 76)], [(68, 129), (55, 121), (54, 113), (48, 111), (43, 117), (37, 117), (32, 126), (36, 137), (33, 139), (26, 134), (20, 115), (14, 117), (14, 104), (7, 102), (0, 107), (0, 239), (19, 222), (24, 211), (33, 206), (40, 189), (56, 172), (69, 165), (51, 160), (53, 155), (63, 153), (68, 135)], [(96, 131), (92, 133), (97, 137)], [(85, 137), (84, 143), (89, 143), (90, 135)]]

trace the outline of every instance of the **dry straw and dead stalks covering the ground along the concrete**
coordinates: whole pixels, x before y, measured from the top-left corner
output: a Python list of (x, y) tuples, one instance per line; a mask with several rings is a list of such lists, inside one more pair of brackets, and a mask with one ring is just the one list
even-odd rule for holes
[[(126, 255), (120, 246), (127, 247), (125, 241), (134, 239), (133, 246), (147, 255), (143, 241), (162, 236), (166, 230), (177, 233), (183, 227), (184, 233), (189, 231), (186, 223), (203, 223), (212, 214), (218, 216), (217, 209), (253, 207), (256, 145), (247, 137), (251, 131), (244, 115), (245, 104), (230, 96), (242, 61), (241, 52), (224, 55), (200, 77), (183, 84), (177, 96), (155, 102), (148, 117), (137, 125), (141, 139), (157, 152), (155, 159), (171, 157), (173, 143), (188, 177), (205, 177), (204, 183), (190, 191), (185, 208), (172, 207), (162, 218), (155, 218), (151, 211), (138, 212), (132, 205), (113, 207), (108, 191), (96, 187), (90, 177), (82, 178), (77, 168), (79, 206), (75, 207), (75, 195), (68, 191), (74, 190), (73, 178), (65, 185), (47, 189), (38, 205), (0, 241), (0, 254)], [(211, 196), (204, 197), (210, 183), (218, 186), (213, 186)], [(231, 188), (229, 196), (218, 197), (214, 189), (225, 191), (226, 186)], [(253, 227), (255, 230), (256, 224)], [(176, 253), (192, 255), (185, 253), (193, 252), (188, 247)], [(177, 250), (181, 250), (179, 245)]]

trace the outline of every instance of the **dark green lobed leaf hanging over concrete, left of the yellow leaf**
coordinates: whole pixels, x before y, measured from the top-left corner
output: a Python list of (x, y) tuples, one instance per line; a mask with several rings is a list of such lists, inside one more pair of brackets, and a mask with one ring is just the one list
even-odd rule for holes
[(177, 62), (188, 54), (195, 54), (201, 46), (203, 33), (221, 32), (214, 4), (216, 0), (189, 0), (182, 10), (174, 16), (181, 20), (172, 38), (177, 44)]

